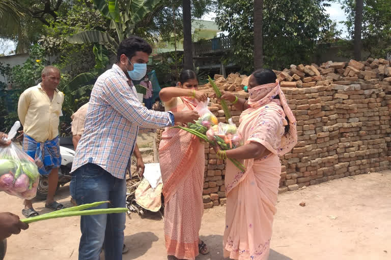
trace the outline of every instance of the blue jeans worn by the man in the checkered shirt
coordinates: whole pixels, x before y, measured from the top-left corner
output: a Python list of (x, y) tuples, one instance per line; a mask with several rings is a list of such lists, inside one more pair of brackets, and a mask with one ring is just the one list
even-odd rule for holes
[[(126, 179), (118, 179), (94, 164), (72, 173), (70, 191), (77, 205), (110, 201), (110, 205), (93, 209), (125, 207)], [(121, 260), (125, 219), (125, 213), (81, 216), (79, 260), (99, 260), (103, 242), (105, 259)]]

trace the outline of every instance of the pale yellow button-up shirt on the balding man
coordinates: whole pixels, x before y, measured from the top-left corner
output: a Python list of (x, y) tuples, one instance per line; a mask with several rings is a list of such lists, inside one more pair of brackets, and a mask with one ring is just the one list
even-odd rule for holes
[(55, 89), (53, 99), (42, 89), (41, 83), (27, 88), (20, 95), (18, 116), (23, 131), (37, 142), (52, 140), (59, 135), (64, 94)]

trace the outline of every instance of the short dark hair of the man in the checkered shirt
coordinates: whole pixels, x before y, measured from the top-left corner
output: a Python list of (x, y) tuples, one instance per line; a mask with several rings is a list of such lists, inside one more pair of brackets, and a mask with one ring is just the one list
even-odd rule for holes
[(120, 61), (122, 54), (131, 59), (136, 51), (142, 51), (148, 54), (152, 53), (152, 46), (147, 43), (143, 38), (138, 36), (129, 36), (120, 43), (117, 50), (117, 62)]

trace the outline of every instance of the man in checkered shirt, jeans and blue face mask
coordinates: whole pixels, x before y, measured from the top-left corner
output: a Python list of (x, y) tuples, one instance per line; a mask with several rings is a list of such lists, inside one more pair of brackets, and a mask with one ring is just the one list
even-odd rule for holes
[[(146, 74), (152, 47), (142, 38), (123, 40), (117, 62), (96, 81), (76, 148), (70, 184), (77, 205), (110, 201), (125, 207), (126, 169), (134, 150), (138, 127), (160, 128), (191, 122), (198, 113), (148, 110), (132, 91), (132, 80)], [(103, 204), (97, 208), (107, 208)], [(104, 242), (105, 259), (122, 259), (125, 213), (81, 216), (79, 260), (97, 260)], [(104, 241), (103, 241), (104, 240)]]

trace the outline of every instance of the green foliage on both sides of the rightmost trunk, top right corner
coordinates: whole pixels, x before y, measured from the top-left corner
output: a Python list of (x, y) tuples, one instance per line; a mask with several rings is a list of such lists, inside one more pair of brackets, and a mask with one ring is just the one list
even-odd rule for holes
[[(355, 1), (340, 0), (351, 39), (354, 38)], [(391, 52), (391, 1), (364, 0), (362, 11), (362, 45), (374, 57), (386, 57)]]

